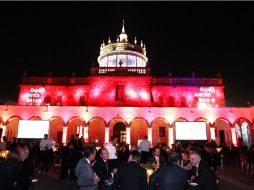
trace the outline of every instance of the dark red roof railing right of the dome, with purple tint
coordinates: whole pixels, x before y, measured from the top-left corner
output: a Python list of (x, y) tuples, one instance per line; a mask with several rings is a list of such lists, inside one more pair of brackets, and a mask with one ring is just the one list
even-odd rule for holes
[(223, 85), (221, 78), (153, 78), (153, 85), (202, 86)]

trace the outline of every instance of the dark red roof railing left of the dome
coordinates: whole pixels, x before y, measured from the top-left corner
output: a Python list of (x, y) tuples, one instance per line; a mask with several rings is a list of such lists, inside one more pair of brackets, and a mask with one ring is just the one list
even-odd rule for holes
[(89, 78), (22, 77), (22, 84), (89, 84)]

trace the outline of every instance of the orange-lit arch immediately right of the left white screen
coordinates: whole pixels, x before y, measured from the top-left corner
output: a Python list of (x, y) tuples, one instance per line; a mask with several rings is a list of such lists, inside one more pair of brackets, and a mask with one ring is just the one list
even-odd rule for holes
[(57, 143), (62, 142), (63, 127), (65, 126), (64, 120), (59, 116), (53, 116), (49, 119), (49, 137)]

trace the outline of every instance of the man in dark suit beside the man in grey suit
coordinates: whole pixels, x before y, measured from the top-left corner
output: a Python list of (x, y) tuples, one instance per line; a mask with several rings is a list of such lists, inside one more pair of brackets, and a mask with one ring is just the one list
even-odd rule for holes
[(108, 150), (106, 148), (102, 148), (100, 149), (100, 158), (96, 160), (93, 164), (93, 170), (95, 171), (95, 173), (100, 179), (98, 183), (99, 190), (107, 189), (108, 187), (106, 187), (107, 183), (105, 182), (105, 180), (112, 179), (113, 177), (108, 168), (108, 163), (107, 163), (108, 158), (109, 158)]

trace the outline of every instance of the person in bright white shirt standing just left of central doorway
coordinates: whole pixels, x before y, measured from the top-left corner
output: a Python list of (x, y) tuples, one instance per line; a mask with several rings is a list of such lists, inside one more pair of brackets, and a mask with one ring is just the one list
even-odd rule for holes
[(110, 142), (105, 144), (104, 146), (109, 152), (108, 166), (110, 171), (112, 171), (114, 168), (118, 166), (116, 144), (117, 144), (117, 138), (112, 136), (110, 138)]

